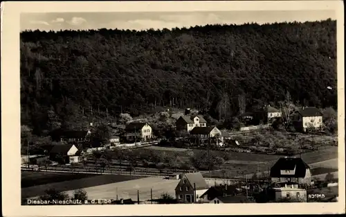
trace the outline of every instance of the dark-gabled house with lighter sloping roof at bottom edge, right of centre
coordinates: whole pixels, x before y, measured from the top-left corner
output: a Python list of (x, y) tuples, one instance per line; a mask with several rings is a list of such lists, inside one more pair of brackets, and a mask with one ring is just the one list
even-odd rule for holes
[(197, 203), (197, 198), (208, 189), (209, 186), (201, 173), (185, 173), (176, 185), (176, 199), (180, 203)]

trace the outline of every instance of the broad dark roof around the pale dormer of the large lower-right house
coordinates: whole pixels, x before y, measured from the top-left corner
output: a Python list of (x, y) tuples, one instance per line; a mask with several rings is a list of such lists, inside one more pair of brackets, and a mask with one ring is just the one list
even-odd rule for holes
[[(280, 171), (293, 170), (294, 175), (281, 175)], [(300, 157), (281, 157), (271, 168), (271, 177), (305, 177), (307, 168), (310, 168)]]

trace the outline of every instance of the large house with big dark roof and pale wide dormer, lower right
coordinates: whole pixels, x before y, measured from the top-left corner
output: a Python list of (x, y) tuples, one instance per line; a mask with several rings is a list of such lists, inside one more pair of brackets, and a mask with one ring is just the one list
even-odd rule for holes
[(292, 183), (311, 184), (310, 167), (300, 157), (281, 157), (271, 167), (270, 177), (272, 182), (281, 186)]

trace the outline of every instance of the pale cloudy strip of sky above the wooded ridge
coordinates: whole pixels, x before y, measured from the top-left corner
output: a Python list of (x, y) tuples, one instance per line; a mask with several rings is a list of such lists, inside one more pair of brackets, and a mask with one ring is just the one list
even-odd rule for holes
[(248, 22), (265, 24), (284, 21), (320, 21), (329, 18), (336, 19), (335, 10), (22, 13), (21, 31), (98, 28), (140, 31), (149, 28), (189, 28), (206, 24), (244, 24)]

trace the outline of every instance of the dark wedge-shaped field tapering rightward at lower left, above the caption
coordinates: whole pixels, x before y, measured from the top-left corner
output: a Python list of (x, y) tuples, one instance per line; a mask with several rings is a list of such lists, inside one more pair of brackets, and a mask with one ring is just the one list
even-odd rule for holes
[[(28, 173), (32, 173), (31, 171)], [(43, 172), (34, 172), (43, 173)], [(56, 173), (57, 176), (66, 173)], [(80, 174), (70, 174), (80, 175)], [(87, 175), (87, 174), (84, 174)], [(32, 175), (34, 177), (34, 175)], [(39, 175), (37, 175), (39, 177)], [(53, 177), (53, 176), (51, 176)], [(33, 198), (36, 196), (44, 195), (44, 191), (47, 189), (56, 189), (57, 191), (70, 191), (75, 189), (84, 189), (91, 186), (99, 186), (115, 182), (124, 182), (127, 180), (137, 180), (138, 178), (143, 178), (143, 176), (138, 177), (134, 175), (93, 175), (91, 177), (84, 177), (76, 180), (69, 180), (64, 182), (53, 182), (50, 184), (41, 184), (37, 186), (30, 186), (27, 188), (21, 188), (21, 198)]]

